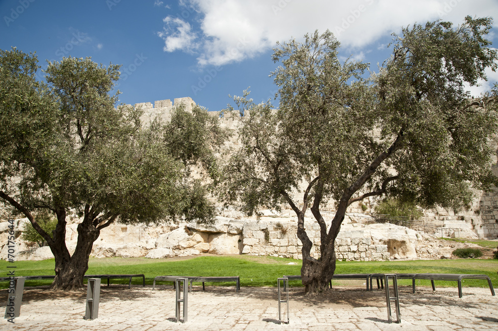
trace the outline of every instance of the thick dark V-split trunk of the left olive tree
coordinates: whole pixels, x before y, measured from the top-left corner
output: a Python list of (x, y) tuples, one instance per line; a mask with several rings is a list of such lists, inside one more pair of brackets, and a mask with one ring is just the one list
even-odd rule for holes
[(85, 215), (83, 222), (78, 224), (77, 230), (78, 241), (72, 256), (67, 250), (65, 237), (57, 236), (56, 233), (54, 247), (50, 247), (55, 256), (55, 279), (50, 287), (51, 290), (73, 291), (84, 287), (83, 276), (88, 270), (88, 259), (100, 230), (95, 228), (88, 215)]

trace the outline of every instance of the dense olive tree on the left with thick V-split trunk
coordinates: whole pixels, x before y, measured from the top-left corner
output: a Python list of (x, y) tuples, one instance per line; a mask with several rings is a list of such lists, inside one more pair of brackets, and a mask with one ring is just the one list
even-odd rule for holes
[[(0, 53), (0, 198), (26, 217), (55, 257), (53, 289), (83, 286), (101, 231), (115, 221), (210, 221), (214, 207), (191, 167), (216, 173), (212, 146), (223, 132), (205, 109), (177, 108), (172, 120), (140, 123), (141, 110), (120, 105), (110, 91), (117, 65), (90, 58), (49, 63), (38, 82), (36, 56)], [(57, 219), (48, 233), (35, 215)], [(74, 253), (67, 217), (77, 214)]]

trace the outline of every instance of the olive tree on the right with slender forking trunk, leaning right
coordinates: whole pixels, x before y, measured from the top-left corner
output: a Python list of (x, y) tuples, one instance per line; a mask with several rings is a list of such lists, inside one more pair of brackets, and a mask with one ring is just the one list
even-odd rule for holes
[[(339, 42), (329, 31), (315, 32), (274, 50), (278, 110), (234, 99), (246, 112), (221, 195), (247, 214), (282, 203), (292, 208), (306, 292), (327, 289), (335, 239), (352, 203), (386, 195), (455, 207), (470, 201), (472, 187), (498, 184), (489, 144), (498, 128), (498, 88), (474, 100), (464, 89), (497, 67), (485, 38), (491, 24), (466, 17), (458, 27), (436, 21), (404, 28), (391, 58), (368, 80), (366, 64), (341, 63)], [(336, 204), (329, 224), (320, 212), (328, 199)], [(318, 259), (310, 255), (308, 208), (320, 226)]]

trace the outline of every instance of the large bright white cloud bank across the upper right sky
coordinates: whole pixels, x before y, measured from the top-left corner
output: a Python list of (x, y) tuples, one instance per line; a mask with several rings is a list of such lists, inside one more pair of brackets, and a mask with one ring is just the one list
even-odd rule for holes
[[(401, 26), (441, 18), (456, 24), (466, 15), (494, 16), (496, 0), (180, 0), (189, 21), (165, 21), (159, 35), (166, 51), (199, 52), (200, 65), (223, 65), (251, 58), (276, 41), (331, 30), (347, 48), (366, 47)], [(192, 10), (191, 8), (195, 8)], [(168, 18), (167, 17), (167, 18)], [(181, 21), (181, 22), (180, 22)], [(176, 29), (171, 30), (171, 22)], [(495, 22), (495, 27), (498, 27)]]

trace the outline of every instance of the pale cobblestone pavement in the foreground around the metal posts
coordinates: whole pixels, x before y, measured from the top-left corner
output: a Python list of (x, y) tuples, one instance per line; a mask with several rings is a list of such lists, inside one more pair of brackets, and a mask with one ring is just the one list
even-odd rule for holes
[[(341, 288), (326, 297), (309, 298), (302, 288), (290, 289), (290, 323), (278, 324), (275, 288), (194, 287), (188, 295), (188, 321), (175, 323), (175, 292), (171, 286), (103, 286), (99, 316), (83, 319), (86, 292), (47, 293), (45, 289), (24, 291), (21, 314), (14, 324), (0, 322), (0, 330), (16, 331), (259, 331), (259, 330), (362, 330), (362, 331), (491, 331), (498, 330), (498, 297), (485, 288), (400, 287), (401, 323), (387, 323), (384, 292)], [(6, 302), (6, 291), (0, 291)], [(285, 305), (282, 305), (285, 307)], [(282, 307), (282, 308), (283, 308)], [(2, 303), (0, 309), (5, 309)], [(282, 309), (284, 311), (284, 309)], [(395, 314), (393, 311), (393, 320)]]

